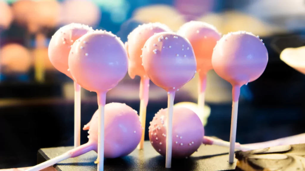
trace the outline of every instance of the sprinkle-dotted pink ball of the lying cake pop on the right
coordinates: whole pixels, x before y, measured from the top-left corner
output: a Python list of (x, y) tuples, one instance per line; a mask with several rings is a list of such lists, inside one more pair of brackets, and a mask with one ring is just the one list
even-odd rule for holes
[[(149, 140), (161, 155), (166, 154), (167, 109), (161, 109), (149, 126)], [(204, 128), (198, 115), (192, 110), (174, 106), (172, 157), (185, 158), (192, 155), (203, 142)]]

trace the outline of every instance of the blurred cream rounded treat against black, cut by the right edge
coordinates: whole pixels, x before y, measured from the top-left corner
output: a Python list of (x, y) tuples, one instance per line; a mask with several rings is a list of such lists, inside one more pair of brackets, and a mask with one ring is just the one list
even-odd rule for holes
[(286, 48), (282, 51), (280, 58), (290, 67), (305, 74), (305, 46), (297, 48)]

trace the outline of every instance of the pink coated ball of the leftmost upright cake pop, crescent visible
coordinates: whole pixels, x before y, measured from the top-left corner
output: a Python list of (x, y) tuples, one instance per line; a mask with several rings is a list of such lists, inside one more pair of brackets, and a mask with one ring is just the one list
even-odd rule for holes
[(71, 73), (68, 71), (68, 57), (71, 46), (75, 40), (92, 30), (89, 26), (71, 23), (61, 27), (52, 36), (49, 47), (48, 55), (52, 65), (60, 72), (72, 78)]

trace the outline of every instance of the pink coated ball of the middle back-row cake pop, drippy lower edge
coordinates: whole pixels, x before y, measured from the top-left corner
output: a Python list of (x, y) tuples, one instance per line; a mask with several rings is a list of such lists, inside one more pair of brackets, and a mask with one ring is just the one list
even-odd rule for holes
[(128, 53), (128, 74), (134, 79), (135, 75), (146, 76), (142, 66), (142, 48), (146, 40), (155, 33), (171, 32), (170, 28), (161, 23), (148, 23), (139, 25), (127, 37), (125, 47)]

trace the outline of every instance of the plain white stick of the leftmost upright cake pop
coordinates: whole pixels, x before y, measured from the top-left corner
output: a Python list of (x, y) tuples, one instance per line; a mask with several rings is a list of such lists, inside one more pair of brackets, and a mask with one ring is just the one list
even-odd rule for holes
[(74, 148), (81, 145), (81, 86), (74, 81)]

